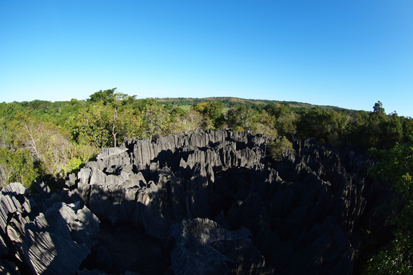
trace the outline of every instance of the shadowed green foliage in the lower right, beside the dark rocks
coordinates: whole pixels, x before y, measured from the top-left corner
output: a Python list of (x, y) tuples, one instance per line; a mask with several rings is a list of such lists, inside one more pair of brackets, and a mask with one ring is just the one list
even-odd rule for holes
[(366, 274), (411, 274), (413, 261), (413, 142), (388, 150), (370, 151), (381, 160), (370, 174), (390, 182), (399, 197), (393, 202), (401, 210), (392, 219), (393, 240), (367, 263)]

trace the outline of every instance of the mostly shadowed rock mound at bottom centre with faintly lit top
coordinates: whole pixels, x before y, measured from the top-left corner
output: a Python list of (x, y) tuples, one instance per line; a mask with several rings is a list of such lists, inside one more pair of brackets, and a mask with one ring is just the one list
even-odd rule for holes
[(185, 219), (173, 225), (173, 274), (273, 274), (251, 241), (246, 228), (226, 230), (209, 219)]

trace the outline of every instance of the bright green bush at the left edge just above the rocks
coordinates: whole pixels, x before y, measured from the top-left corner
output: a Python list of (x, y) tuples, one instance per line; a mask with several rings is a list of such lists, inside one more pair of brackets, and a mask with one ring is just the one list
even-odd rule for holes
[(26, 149), (10, 151), (0, 148), (0, 187), (18, 181), (30, 188), (38, 176), (32, 155)]

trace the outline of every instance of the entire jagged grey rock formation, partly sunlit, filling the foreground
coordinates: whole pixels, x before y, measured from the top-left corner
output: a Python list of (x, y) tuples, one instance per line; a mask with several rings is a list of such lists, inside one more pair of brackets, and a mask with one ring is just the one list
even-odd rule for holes
[(352, 274), (359, 228), (383, 195), (366, 179), (371, 162), (313, 139), (293, 146), (270, 164), (264, 137), (248, 132), (128, 140), (59, 192), (6, 186), (0, 269)]

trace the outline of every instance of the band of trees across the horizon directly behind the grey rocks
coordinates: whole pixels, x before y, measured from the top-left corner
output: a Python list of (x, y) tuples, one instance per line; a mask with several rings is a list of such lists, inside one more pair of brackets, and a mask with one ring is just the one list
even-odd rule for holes
[(81, 168), (100, 148), (118, 146), (128, 137), (229, 127), (273, 139), (296, 135), (334, 144), (391, 148), (396, 142), (407, 142), (407, 135), (413, 131), (411, 118), (386, 115), (381, 102), (374, 104), (372, 112), (366, 112), (240, 98), (159, 101), (162, 104), (153, 98), (136, 100), (114, 88), (96, 91), (87, 100), (3, 102), (0, 148), (12, 152), (28, 148), (40, 176), (64, 177)]

